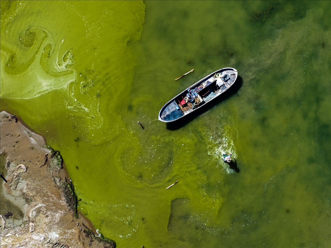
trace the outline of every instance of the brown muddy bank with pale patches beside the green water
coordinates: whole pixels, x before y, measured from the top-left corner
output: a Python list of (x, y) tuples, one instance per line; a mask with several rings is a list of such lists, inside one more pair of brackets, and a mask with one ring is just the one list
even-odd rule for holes
[(77, 212), (61, 154), (19, 118), (0, 114), (1, 247), (116, 247)]

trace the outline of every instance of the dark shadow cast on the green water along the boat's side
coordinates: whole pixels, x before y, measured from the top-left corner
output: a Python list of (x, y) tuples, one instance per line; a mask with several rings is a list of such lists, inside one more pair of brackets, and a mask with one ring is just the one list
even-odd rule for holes
[(233, 83), (233, 85), (226, 92), (224, 92), (217, 98), (213, 99), (209, 103), (206, 103), (205, 105), (201, 106), (200, 108), (198, 108), (194, 112), (190, 113), (189, 115), (184, 116), (184, 117), (180, 118), (179, 120), (166, 123), (166, 129), (174, 131), (179, 128), (182, 128), (183, 126), (188, 124), (190, 121), (192, 121), (199, 115), (205, 113), (212, 107), (216, 106), (218, 103), (223, 102), (224, 100), (232, 97), (233, 95), (239, 96), (237, 92), (239, 91), (239, 89), (241, 88), (242, 85), (243, 85), (243, 79), (241, 76), (238, 75), (237, 80)]

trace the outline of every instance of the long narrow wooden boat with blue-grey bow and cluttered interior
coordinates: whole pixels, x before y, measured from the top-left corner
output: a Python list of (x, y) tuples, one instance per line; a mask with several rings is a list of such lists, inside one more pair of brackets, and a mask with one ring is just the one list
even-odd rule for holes
[(238, 77), (234, 68), (222, 68), (199, 80), (164, 105), (159, 113), (163, 122), (176, 121), (212, 101), (229, 89)]

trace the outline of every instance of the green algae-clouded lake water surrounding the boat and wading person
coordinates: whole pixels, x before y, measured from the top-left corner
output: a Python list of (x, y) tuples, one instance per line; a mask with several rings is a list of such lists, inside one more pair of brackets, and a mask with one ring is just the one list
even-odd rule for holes
[[(330, 1), (1, 1), (1, 110), (118, 247), (330, 247), (330, 30)], [(155, 120), (223, 67), (236, 94)]]

